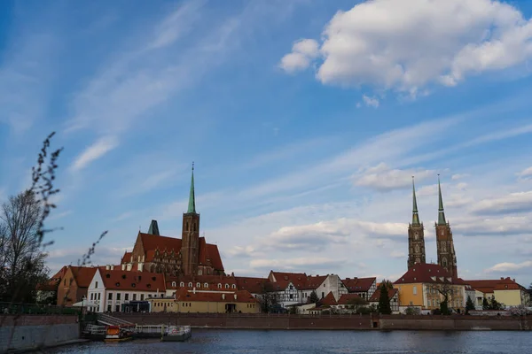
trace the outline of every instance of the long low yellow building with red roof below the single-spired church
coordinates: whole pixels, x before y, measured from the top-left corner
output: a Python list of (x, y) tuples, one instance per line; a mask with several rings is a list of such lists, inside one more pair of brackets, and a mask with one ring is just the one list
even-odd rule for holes
[(152, 298), (152, 312), (258, 313), (261, 306), (246, 290), (197, 291), (180, 289), (175, 297)]

